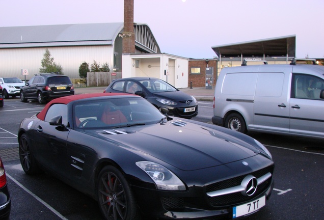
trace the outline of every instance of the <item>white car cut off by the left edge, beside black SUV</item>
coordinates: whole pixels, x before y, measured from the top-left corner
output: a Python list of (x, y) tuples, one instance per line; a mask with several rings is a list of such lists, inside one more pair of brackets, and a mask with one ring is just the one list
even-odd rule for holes
[(20, 95), (21, 87), (25, 86), (25, 83), (17, 77), (0, 78), (0, 85), (3, 88), (4, 98), (12, 96), (15, 98)]

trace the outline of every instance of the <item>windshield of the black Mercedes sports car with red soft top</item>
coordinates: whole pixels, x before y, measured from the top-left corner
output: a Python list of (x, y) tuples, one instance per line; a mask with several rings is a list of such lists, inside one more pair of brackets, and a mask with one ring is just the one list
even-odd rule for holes
[(165, 117), (150, 102), (136, 96), (77, 102), (73, 115), (75, 126), (83, 129), (140, 126)]

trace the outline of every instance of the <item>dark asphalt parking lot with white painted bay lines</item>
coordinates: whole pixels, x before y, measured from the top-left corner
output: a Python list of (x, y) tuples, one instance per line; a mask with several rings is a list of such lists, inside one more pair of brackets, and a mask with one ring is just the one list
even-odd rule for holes
[[(202, 113), (208, 115), (208, 101), (200, 102)], [(11, 219), (101, 219), (96, 201), (46, 173), (28, 176), (22, 171), (16, 137), (19, 124), (43, 107), (35, 101), (22, 103), (15, 98), (5, 100), (0, 108), (0, 156), (12, 196)], [(199, 115), (193, 120), (208, 123)], [(323, 219), (324, 142), (284, 135), (249, 135), (266, 145), (276, 168), (272, 197), (247, 219)]]

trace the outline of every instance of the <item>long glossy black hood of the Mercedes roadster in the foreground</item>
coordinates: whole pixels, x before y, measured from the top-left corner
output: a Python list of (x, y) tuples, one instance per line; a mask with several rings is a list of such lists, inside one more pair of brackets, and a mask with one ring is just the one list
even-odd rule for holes
[(260, 153), (232, 135), (180, 120), (107, 131), (118, 135), (99, 131), (100, 136), (120, 147), (137, 149), (185, 171), (220, 166)]

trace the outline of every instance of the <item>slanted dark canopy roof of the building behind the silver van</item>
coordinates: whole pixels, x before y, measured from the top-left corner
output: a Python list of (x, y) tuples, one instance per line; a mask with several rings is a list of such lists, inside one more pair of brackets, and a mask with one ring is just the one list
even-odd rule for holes
[(295, 57), (296, 36), (290, 35), (211, 47), (218, 57), (288, 56)]

